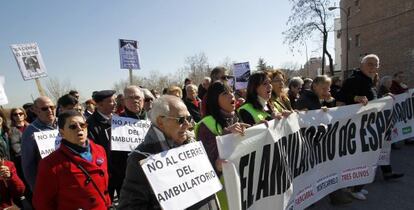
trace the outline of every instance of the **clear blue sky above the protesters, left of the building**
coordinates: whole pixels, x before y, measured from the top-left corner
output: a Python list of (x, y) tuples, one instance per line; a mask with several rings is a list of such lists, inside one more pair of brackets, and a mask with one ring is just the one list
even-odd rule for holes
[[(6, 77), (6, 107), (38, 96), (34, 80), (23, 81), (11, 44), (37, 42), (48, 75), (69, 80), (83, 98), (128, 77), (119, 67), (119, 38), (140, 42), (142, 69), (136, 75), (173, 73), (187, 56), (200, 52), (213, 65), (226, 57), (252, 66), (259, 57), (273, 66), (303, 64), (305, 54), (293, 55), (283, 44), (290, 7), (288, 0), (2, 1), (0, 75)], [(308, 48), (310, 55), (319, 55), (311, 52), (317, 44), (310, 41)]]

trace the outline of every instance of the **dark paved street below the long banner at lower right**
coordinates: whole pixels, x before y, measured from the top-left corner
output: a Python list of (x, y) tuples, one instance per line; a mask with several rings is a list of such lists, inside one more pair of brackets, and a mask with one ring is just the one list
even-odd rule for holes
[(401, 150), (392, 150), (391, 163), (393, 170), (404, 172), (405, 176), (398, 181), (384, 181), (380, 170), (377, 171), (374, 183), (366, 186), (369, 191), (366, 201), (354, 200), (344, 206), (332, 206), (325, 197), (309, 210), (412, 210), (414, 209), (414, 145), (404, 145)]

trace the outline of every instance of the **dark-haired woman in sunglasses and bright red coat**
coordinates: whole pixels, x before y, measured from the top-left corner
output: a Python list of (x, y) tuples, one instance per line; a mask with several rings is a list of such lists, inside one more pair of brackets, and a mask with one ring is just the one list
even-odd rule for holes
[(107, 209), (111, 201), (104, 149), (87, 139), (87, 124), (79, 112), (62, 112), (58, 124), (61, 146), (39, 163), (33, 206)]

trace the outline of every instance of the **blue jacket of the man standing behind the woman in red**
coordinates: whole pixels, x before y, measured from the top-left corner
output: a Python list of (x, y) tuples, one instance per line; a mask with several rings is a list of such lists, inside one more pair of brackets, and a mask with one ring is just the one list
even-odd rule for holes
[(37, 148), (36, 141), (34, 139), (34, 133), (40, 131), (55, 130), (55, 125), (46, 125), (39, 119), (33, 121), (23, 132), (22, 136), (22, 167), (24, 178), (29, 184), (30, 189), (33, 191), (36, 182), (37, 166), (40, 157), (39, 149)]

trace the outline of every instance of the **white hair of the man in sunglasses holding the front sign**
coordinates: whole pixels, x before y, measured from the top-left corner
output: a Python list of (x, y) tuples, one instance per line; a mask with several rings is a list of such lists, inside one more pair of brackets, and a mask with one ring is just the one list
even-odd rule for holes
[(157, 118), (159, 116), (168, 116), (170, 114), (171, 106), (177, 106), (179, 103), (184, 105), (181, 98), (172, 95), (162, 95), (161, 97), (155, 99), (152, 104), (152, 109), (149, 111), (151, 123), (153, 125), (158, 125)]

